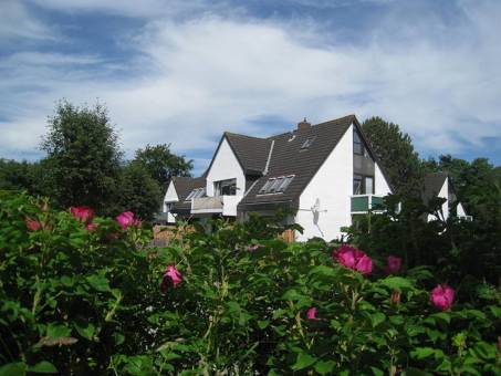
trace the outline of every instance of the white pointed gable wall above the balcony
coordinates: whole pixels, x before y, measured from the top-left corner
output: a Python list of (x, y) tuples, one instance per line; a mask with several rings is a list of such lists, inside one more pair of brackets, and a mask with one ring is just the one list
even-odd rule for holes
[(237, 196), (243, 196), (246, 190), (246, 176), (231, 150), (226, 137), (222, 139), (218, 153), (207, 174), (207, 196), (213, 196), (213, 182), (218, 180), (237, 179)]

